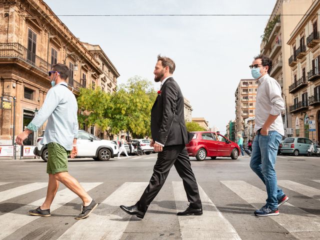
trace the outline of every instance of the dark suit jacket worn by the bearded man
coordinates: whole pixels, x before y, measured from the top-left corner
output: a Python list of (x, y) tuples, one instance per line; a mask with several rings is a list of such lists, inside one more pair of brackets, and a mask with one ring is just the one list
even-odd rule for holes
[(184, 121), (184, 100), (176, 81), (169, 77), (161, 86), (151, 109), (151, 135), (165, 146), (186, 144), (188, 135)]

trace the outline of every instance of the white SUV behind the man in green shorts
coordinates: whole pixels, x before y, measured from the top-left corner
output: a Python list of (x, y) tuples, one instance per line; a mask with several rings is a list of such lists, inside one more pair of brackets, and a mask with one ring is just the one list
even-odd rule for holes
[[(37, 139), (33, 153), (37, 156), (41, 156), (44, 161), (47, 161), (47, 147), (46, 145), (41, 144), (41, 139), (42, 136)], [(78, 149), (77, 157), (92, 157), (94, 160), (100, 161), (108, 161), (119, 151), (118, 146), (113, 141), (101, 140), (83, 130), (79, 130), (76, 144)]]

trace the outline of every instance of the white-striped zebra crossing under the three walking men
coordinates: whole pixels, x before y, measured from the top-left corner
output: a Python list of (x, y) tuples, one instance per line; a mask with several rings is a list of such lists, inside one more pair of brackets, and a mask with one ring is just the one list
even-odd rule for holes
[[(317, 186), (317, 183), (320, 180), (310, 180), (312, 186), (306, 185), (306, 182), (304, 181), (302, 184), (292, 180), (278, 180), (278, 185), (285, 192), (291, 193), (291, 195), (288, 194), (291, 199), (298, 195), (305, 197), (306, 201), (311, 199), (315, 203), (319, 202), (320, 187)], [(14, 185), (14, 187), (7, 189), (6, 186), (9, 184)], [(105, 183), (81, 183), (86, 191), (103, 189), (103, 184)], [(265, 202), (265, 190), (246, 181), (221, 180), (219, 184), (224, 187), (224, 191), (234, 194), (239, 201), (247, 202), (252, 208), (260, 208)], [(115, 186), (111, 194), (101, 197), (102, 200), (99, 201), (98, 207), (88, 218), (83, 220), (73, 220), (70, 215), (59, 215), (57, 213), (61, 211), (60, 209), (65, 210), (75, 204), (72, 202), (77, 196), (67, 188), (58, 190), (56, 193), (50, 207), (51, 217), (43, 219), (39, 216), (28, 215), (27, 211), (29, 209), (41, 205), (45, 199), (45, 197), (42, 197), (36, 200), (28, 200), (28, 197), (38, 191), (45, 193), (46, 185), (46, 182), (26, 184), (0, 182), (0, 239), (156, 239), (157, 237), (159, 239), (183, 240), (247, 239), (247, 236), (243, 235), (243, 230), (237, 224), (234, 224), (232, 215), (219, 210), (219, 205), (213, 202), (206, 193), (205, 187), (202, 188), (201, 184), (199, 184), (199, 193), (202, 200), (203, 215), (176, 215), (176, 212), (186, 208), (187, 199), (183, 183), (172, 181), (166, 182), (161, 189), (162, 193), (159, 193), (152, 202), (142, 220), (127, 215), (119, 208), (119, 205), (134, 204), (145, 189), (147, 182), (124, 182)], [(107, 184), (105, 185), (107, 186)], [(5, 212), (4, 208), (1, 209), (5, 205), (13, 204), (17, 199), (23, 201), (22, 206), (17, 205), (9, 212)], [(317, 206), (319, 205), (320, 202)], [(247, 214), (256, 217), (252, 213)], [(55, 222), (54, 219), (59, 220)], [(256, 217), (256, 219), (263, 220), (259, 217)], [(289, 238), (320, 239), (320, 216), (316, 212), (315, 214), (310, 213), (303, 205), (285, 203), (281, 206), (278, 216), (264, 217), (264, 219), (271, 219), (272, 224), (285, 229), (286, 234), (290, 234)], [(64, 223), (64, 221), (67, 222)], [(41, 233), (40, 230), (43, 231), (49, 225), (52, 227), (53, 223), (55, 228), (46, 233), (50, 234), (50, 237), (41, 235), (44, 233)], [(168, 228), (169, 231), (165, 232), (165, 228)], [(155, 237), (156, 235), (157, 237)], [(163, 236), (163, 238), (160, 238), (160, 236)]]

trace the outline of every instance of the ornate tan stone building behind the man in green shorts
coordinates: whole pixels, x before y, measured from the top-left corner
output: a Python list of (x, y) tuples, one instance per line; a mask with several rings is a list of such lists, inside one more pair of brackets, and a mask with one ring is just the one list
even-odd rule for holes
[[(11, 144), (42, 105), (52, 64), (70, 68), (67, 83), (75, 95), (80, 87), (99, 85), (107, 70), (42, 0), (0, 0), (0, 19), (0, 144)], [(32, 133), (24, 144), (35, 144), (36, 137)]]

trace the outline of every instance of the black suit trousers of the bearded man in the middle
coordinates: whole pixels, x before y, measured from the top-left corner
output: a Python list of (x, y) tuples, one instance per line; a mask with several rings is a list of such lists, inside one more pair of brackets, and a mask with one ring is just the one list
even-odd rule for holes
[(164, 146), (163, 150), (158, 152), (149, 184), (136, 203), (140, 211), (146, 212), (149, 204), (163, 186), (172, 165), (174, 165), (179, 176), (182, 178), (184, 190), (190, 205), (193, 208), (202, 208), (199, 190), (191, 169), (189, 156), (185, 145), (181, 144)]

